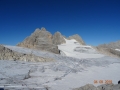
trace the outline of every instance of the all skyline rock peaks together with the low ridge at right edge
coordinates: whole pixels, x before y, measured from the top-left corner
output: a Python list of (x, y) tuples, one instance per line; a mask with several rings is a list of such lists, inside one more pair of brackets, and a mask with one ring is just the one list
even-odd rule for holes
[[(57, 31), (54, 35), (52, 35), (49, 31), (42, 27), (41, 29), (37, 28), (30, 36), (25, 38), (23, 42), (17, 44), (17, 46), (59, 54), (60, 50), (58, 49), (58, 45), (66, 43), (65, 39), (75, 39), (80, 45), (86, 45), (84, 40), (78, 34), (65, 37)], [(102, 44), (94, 48), (102, 54), (120, 57), (120, 41), (110, 44)]]

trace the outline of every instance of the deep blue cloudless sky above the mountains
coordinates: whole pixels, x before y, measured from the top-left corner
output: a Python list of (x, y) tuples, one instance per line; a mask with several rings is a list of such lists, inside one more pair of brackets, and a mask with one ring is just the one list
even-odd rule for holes
[(118, 41), (120, 0), (0, 0), (0, 44), (16, 45), (41, 27), (93, 46)]

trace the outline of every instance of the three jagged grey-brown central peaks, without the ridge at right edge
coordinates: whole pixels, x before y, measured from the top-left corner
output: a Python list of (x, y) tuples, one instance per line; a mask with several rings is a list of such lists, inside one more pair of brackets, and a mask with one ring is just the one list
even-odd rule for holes
[[(83, 45), (85, 44), (79, 35), (70, 36), (69, 39), (76, 39), (79, 43)], [(57, 45), (63, 43), (66, 43), (66, 41), (60, 32), (56, 32), (54, 35), (52, 35), (42, 27), (41, 29), (37, 28), (29, 37), (27, 37), (17, 46), (44, 50), (59, 54), (60, 51), (58, 50)]]

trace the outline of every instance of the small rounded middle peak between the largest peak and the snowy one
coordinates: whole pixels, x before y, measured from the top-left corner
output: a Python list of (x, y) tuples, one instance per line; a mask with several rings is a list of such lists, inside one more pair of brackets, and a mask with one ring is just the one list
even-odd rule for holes
[(55, 44), (55, 45), (60, 45), (60, 44), (66, 43), (64, 37), (61, 35), (60, 32), (56, 32), (53, 35), (52, 40), (53, 40), (53, 44)]

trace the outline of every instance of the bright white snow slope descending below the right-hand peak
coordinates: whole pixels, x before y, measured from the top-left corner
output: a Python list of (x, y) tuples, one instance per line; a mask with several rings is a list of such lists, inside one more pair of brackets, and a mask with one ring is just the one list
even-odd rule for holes
[(99, 54), (94, 48), (87, 45), (80, 45), (75, 39), (67, 40), (66, 43), (58, 45), (59, 50), (65, 53), (66, 56), (76, 58), (100, 58), (104, 55)]

